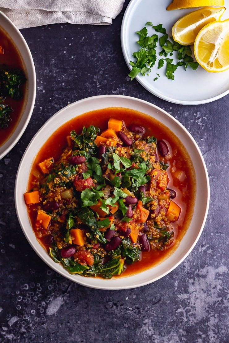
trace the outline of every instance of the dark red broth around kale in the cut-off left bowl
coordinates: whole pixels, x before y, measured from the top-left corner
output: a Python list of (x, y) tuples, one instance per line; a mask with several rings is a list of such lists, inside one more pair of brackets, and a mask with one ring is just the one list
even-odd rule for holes
[[(7, 35), (7, 33), (0, 27), (0, 46), (2, 46), (4, 53), (0, 54), (0, 66), (5, 64), (7, 67), (10, 68), (17, 68), (22, 69), (25, 71), (23, 67), (23, 62), (20, 57), (20, 54), (15, 47), (14, 43), (12, 42), (11, 38)], [(10, 138), (12, 133), (14, 132), (21, 115), (23, 113), (23, 109), (26, 104), (26, 86), (25, 84), (21, 85), (21, 90), (24, 94), (23, 98), (20, 100), (14, 100), (11, 97), (7, 97), (3, 104), (8, 104), (12, 107), (13, 111), (10, 112), (10, 118), (8, 127), (6, 129), (0, 129), (0, 146)]]

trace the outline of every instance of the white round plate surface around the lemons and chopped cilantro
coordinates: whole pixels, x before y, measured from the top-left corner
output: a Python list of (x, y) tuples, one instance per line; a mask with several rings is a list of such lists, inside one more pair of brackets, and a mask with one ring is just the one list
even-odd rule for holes
[[(175, 22), (183, 15), (196, 10), (195, 8), (189, 10), (167, 11), (166, 8), (171, 1), (172, 0), (130, 1), (124, 14), (121, 28), (123, 55), (130, 70), (132, 67), (129, 64), (129, 61), (135, 60), (132, 57), (132, 53), (140, 49), (140, 45), (136, 43), (139, 37), (139, 35), (136, 34), (136, 31), (142, 29), (145, 26), (145, 23), (150, 21), (154, 26), (163, 24), (168, 35), (171, 36), (172, 27)], [(222, 20), (229, 17), (229, 0), (225, 0), (225, 7), (227, 10), (222, 16)], [(146, 27), (149, 35), (156, 33), (151, 26)], [(162, 34), (159, 33), (158, 35), (160, 37)], [(209, 103), (229, 93), (229, 70), (222, 73), (208, 73), (201, 66), (196, 70), (192, 70), (188, 67), (186, 71), (184, 70), (184, 67), (181, 66), (174, 72), (174, 81), (168, 80), (165, 76), (165, 65), (158, 69), (158, 59), (163, 57), (159, 57), (158, 55), (158, 52), (161, 51), (159, 44), (156, 51), (158, 58), (149, 76), (136, 76), (137, 81), (152, 94), (175, 104), (197, 105)], [(170, 56), (168, 57), (173, 58)], [(176, 63), (176, 60), (174, 60), (174, 63)], [(157, 73), (160, 77), (158, 77), (158, 80), (153, 81), (153, 79), (157, 77)], [(135, 81), (133, 80), (132, 82)]]

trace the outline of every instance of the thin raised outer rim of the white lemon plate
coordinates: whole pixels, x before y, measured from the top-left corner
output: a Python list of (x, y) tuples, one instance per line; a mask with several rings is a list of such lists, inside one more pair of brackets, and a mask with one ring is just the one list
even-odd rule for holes
[[(135, 4), (139, 2), (139, 0), (131, 0), (126, 8), (126, 11), (124, 13), (123, 16), (123, 20), (122, 20), (122, 26), (121, 26), (121, 47), (122, 47), (122, 52), (123, 52), (123, 56), (124, 59), (126, 61), (127, 67), (129, 68), (129, 70), (132, 69), (132, 67), (129, 64), (129, 58), (128, 58), (128, 54), (127, 54), (127, 49), (126, 49), (126, 44), (125, 44), (125, 29), (126, 29), (126, 25), (128, 22), (128, 18), (129, 18), (129, 13), (132, 11), (133, 7), (135, 6)], [(172, 11), (171, 11), (172, 12)], [(179, 105), (201, 105), (201, 104), (207, 104), (210, 102), (213, 102), (215, 100), (218, 100), (224, 96), (226, 96), (227, 94), (229, 94), (229, 89), (221, 94), (218, 94), (214, 97), (208, 98), (208, 99), (203, 99), (203, 100), (196, 100), (196, 101), (185, 101), (185, 100), (179, 100), (179, 99), (175, 99), (175, 98), (171, 98), (167, 95), (162, 95), (161, 93), (157, 92), (157, 90), (153, 90), (153, 88), (149, 87), (147, 84), (145, 84), (144, 82), (144, 78), (140, 77), (139, 75), (136, 76), (135, 78), (147, 91), (149, 91), (150, 93), (152, 93), (153, 95), (156, 95), (157, 97), (166, 100), (170, 103), (173, 104), (179, 104)]]

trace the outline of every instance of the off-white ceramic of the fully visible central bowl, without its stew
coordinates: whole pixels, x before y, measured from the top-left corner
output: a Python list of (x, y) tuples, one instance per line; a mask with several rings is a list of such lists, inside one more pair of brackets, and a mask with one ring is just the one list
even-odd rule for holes
[[(31, 227), (23, 194), (27, 189), (28, 177), (33, 160), (48, 137), (63, 123), (85, 112), (105, 107), (126, 107), (146, 113), (162, 122), (181, 140), (190, 155), (196, 173), (196, 201), (194, 215), (179, 247), (168, 259), (139, 274), (117, 279), (100, 279), (69, 274), (60, 264), (55, 263), (38, 243)], [(79, 100), (58, 111), (36, 133), (28, 145), (18, 168), (15, 183), (15, 206), (22, 230), (39, 257), (59, 274), (81, 285), (99, 289), (125, 289), (146, 285), (160, 279), (176, 268), (194, 248), (199, 239), (208, 212), (209, 180), (205, 162), (199, 148), (188, 131), (171, 115), (146, 101), (121, 95), (101, 95)]]

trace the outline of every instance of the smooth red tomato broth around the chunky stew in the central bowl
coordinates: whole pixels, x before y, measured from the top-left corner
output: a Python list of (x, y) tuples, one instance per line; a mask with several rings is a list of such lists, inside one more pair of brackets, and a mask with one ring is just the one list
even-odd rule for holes
[[(67, 146), (66, 137), (69, 135), (71, 130), (75, 130), (78, 134), (80, 134), (83, 126), (88, 127), (90, 125), (94, 125), (98, 126), (102, 132), (107, 129), (107, 123), (110, 118), (123, 120), (126, 127), (128, 127), (128, 125), (131, 123), (143, 125), (146, 128), (146, 133), (143, 137), (153, 135), (158, 140), (163, 139), (169, 146), (170, 154), (171, 152), (177, 151), (175, 157), (173, 156), (168, 160), (169, 168), (167, 169), (169, 176), (168, 188), (176, 191), (177, 196), (173, 200), (181, 207), (179, 220), (171, 224), (174, 231), (173, 243), (163, 250), (151, 249), (149, 252), (141, 252), (140, 261), (127, 265), (127, 269), (121, 275), (122, 277), (125, 277), (149, 269), (162, 262), (162, 260), (165, 258), (168, 258), (178, 247), (193, 215), (196, 193), (195, 171), (185, 147), (170, 129), (149, 115), (127, 108), (111, 107), (84, 113), (69, 120), (64, 125), (59, 127), (44, 143), (33, 161), (27, 191), (33, 189), (33, 181), (35, 180), (35, 176), (32, 174), (32, 171), (39, 170), (38, 163), (41, 163), (44, 161), (44, 159), (50, 156), (54, 158), (55, 162), (58, 161), (62, 150)], [(171, 166), (175, 164), (179, 165), (186, 174), (186, 178), (182, 183), (178, 179), (172, 177)], [(36, 234), (34, 227), (37, 216), (36, 205), (31, 205), (28, 208), (28, 214), (33, 230)], [(39, 243), (48, 251), (49, 246), (44, 244), (43, 238), (37, 239)]]

